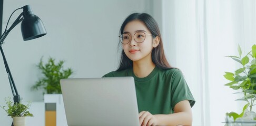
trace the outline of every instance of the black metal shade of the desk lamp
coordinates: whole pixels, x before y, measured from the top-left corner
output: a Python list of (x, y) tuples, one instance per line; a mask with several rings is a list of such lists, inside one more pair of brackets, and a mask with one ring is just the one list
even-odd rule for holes
[(30, 7), (24, 6), (24, 19), (21, 24), (23, 40), (31, 40), (46, 35), (42, 20), (32, 13)]

